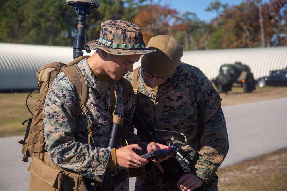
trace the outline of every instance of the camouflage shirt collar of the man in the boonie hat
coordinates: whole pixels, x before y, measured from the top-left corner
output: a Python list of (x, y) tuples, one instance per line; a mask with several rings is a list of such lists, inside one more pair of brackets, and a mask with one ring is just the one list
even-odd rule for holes
[[(82, 60), (78, 64), (78, 66), (84, 75), (85, 84), (88, 87), (94, 88), (95, 90), (100, 92), (101, 95), (104, 95), (104, 91), (103, 91), (103, 88), (100, 84), (100, 80), (98, 80), (96, 78), (96, 76), (93, 74), (93, 72), (92, 72), (92, 70), (91, 70), (91, 68), (87, 62), (87, 59)], [(122, 92), (123, 87), (121, 86), (120, 82), (118, 80), (113, 80), (113, 82), (114, 82), (116, 92), (117, 93)]]

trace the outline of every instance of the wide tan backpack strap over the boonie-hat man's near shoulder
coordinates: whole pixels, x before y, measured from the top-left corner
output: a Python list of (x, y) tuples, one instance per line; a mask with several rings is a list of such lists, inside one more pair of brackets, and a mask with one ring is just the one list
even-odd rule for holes
[(76, 119), (82, 113), (88, 95), (88, 87), (85, 84), (84, 76), (77, 64), (81, 60), (89, 57), (90, 56), (80, 56), (79, 58), (73, 60), (72, 62), (61, 68), (61, 72), (64, 72), (75, 86), (75, 95), (77, 101), (76, 116), (75, 116)]

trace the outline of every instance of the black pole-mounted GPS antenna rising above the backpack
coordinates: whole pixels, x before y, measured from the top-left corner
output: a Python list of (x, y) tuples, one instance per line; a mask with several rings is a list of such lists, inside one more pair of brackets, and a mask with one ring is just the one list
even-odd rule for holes
[(86, 47), (86, 20), (87, 16), (90, 15), (90, 9), (100, 8), (100, 3), (97, 0), (67, 0), (67, 5), (75, 7), (75, 14), (78, 15), (78, 31), (73, 42), (73, 57), (74, 60), (80, 56), (83, 56), (83, 51), (86, 50), (87, 53), (90, 53), (90, 48)]

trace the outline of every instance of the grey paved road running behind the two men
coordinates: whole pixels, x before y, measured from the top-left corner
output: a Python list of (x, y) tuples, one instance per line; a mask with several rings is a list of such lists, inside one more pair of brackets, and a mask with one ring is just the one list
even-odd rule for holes
[[(287, 98), (223, 107), (230, 149), (220, 168), (287, 147), (286, 106)], [(30, 159), (21, 161), (20, 139), (0, 139), (0, 191), (29, 190)]]

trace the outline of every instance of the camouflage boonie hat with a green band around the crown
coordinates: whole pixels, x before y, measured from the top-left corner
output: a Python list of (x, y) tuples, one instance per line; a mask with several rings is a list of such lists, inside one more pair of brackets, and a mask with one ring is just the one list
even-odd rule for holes
[(99, 48), (114, 55), (140, 55), (155, 51), (146, 48), (137, 25), (121, 20), (103, 21), (100, 38), (89, 42), (88, 46), (91, 50)]

